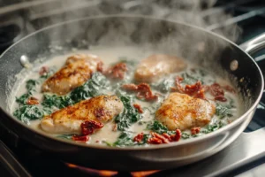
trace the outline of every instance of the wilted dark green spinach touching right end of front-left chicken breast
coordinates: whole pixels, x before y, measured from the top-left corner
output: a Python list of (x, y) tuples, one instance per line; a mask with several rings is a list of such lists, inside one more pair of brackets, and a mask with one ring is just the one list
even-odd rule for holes
[(115, 118), (117, 123), (117, 129), (124, 131), (126, 128), (130, 127), (133, 123), (137, 122), (142, 118), (137, 109), (132, 105), (132, 98), (130, 96), (120, 96), (121, 101), (123, 102), (125, 109), (122, 113), (118, 114)]

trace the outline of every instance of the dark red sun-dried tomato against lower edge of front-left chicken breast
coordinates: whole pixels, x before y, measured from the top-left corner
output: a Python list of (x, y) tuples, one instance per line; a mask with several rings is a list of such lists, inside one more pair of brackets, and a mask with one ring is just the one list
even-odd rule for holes
[(96, 129), (102, 128), (104, 125), (95, 120), (87, 120), (81, 124), (82, 135), (91, 135), (95, 133)]

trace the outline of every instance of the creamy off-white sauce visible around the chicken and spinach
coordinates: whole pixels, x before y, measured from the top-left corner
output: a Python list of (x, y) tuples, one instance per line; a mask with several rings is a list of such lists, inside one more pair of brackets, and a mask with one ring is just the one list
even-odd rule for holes
[[(26, 81), (29, 79), (37, 80), (39, 76), (39, 70), (42, 66), (48, 66), (49, 68), (55, 68), (56, 71), (60, 69), (64, 63), (65, 59), (73, 54), (77, 53), (87, 53), (87, 54), (94, 54), (102, 58), (102, 61), (104, 63), (104, 67), (109, 66), (110, 64), (116, 63), (119, 58), (125, 57), (128, 59), (133, 59), (140, 61), (142, 58), (147, 58), (149, 55), (156, 53), (152, 50), (142, 50), (137, 47), (92, 47), (90, 50), (78, 50), (71, 52), (64, 56), (57, 56), (55, 58), (50, 58), (49, 61), (42, 63), (42, 65), (38, 65), (38, 67), (34, 67), (29, 73), (27, 74), (27, 77), (24, 78), (24, 82), (19, 84), (18, 92), (16, 93), (16, 96), (19, 97), (22, 94), (27, 92), (26, 89)], [(193, 65), (189, 65), (189, 67), (193, 67)], [(176, 73), (177, 75), (180, 73)], [(175, 75), (176, 75), (175, 74)], [(173, 78), (173, 76), (171, 76)], [(210, 74), (205, 78), (206, 84), (210, 83), (211, 81), (215, 80), (220, 85), (231, 85), (228, 81), (225, 81), (221, 78), (218, 78), (216, 76), (211, 76)], [(41, 92), (41, 86), (42, 84), (38, 84), (36, 87), (36, 91), (34, 92), (34, 97), (38, 98), (39, 100), (42, 100), (42, 92)], [(169, 94), (169, 93), (168, 93)], [(165, 97), (168, 95), (166, 94)], [(209, 96), (209, 94), (207, 95)], [(230, 97), (232, 100), (234, 100), (234, 105), (236, 105), (236, 108), (232, 109), (233, 116), (229, 118), (229, 121), (232, 121), (234, 119), (237, 119), (240, 115), (240, 104), (239, 99), (235, 94), (231, 94), (229, 92), (225, 92), (225, 97)], [(163, 99), (160, 98), (160, 102), (163, 102)], [(18, 104), (15, 101), (11, 101), (11, 112), (14, 112), (18, 108)], [(151, 106), (148, 102), (142, 102), (139, 100), (136, 100), (136, 104), (141, 104), (141, 107), (149, 107)], [(148, 122), (153, 119), (155, 119), (155, 115), (151, 115), (150, 112), (147, 110), (144, 111), (143, 119), (140, 119), (141, 122)], [(215, 115), (214, 118), (211, 120), (211, 122), (216, 121), (217, 116)], [(33, 120), (30, 121), (29, 127), (34, 128), (38, 131), (42, 131), (42, 128), (40, 127), (41, 120)], [(97, 131), (94, 135), (90, 135), (90, 139), (87, 143), (99, 143), (104, 144), (103, 142), (116, 142), (118, 135), (120, 135), (119, 131), (113, 131), (113, 127), (115, 126), (114, 120), (105, 124), (104, 127), (102, 127), (101, 130)], [(149, 130), (147, 130), (147, 124), (140, 124), (135, 123), (133, 126), (131, 126), (128, 131), (133, 132), (133, 135), (138, 135), (139, 133), (149, 133)], [(188, 132), (188, 131), (187, 131)], [(55, 135), (52, 135), (55, 136)]]

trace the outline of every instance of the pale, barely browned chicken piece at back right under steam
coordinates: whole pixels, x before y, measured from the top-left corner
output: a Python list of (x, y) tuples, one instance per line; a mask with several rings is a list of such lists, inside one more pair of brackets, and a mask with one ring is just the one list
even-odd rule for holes
[(175, 56), (154, 54), (140, 61), (134, 73), (135, 81), (154, 82), (170, 73), (181, 72), (186, 62)]

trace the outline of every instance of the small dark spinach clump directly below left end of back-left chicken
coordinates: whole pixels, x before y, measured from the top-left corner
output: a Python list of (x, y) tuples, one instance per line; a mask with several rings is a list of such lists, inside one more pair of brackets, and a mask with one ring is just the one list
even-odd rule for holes
[(57, 107), (62, 109), (68, 105), (72, 105), (73, 101), (69, 96), (49, 96), (44, 95), (42, 105), (47, 108)]

